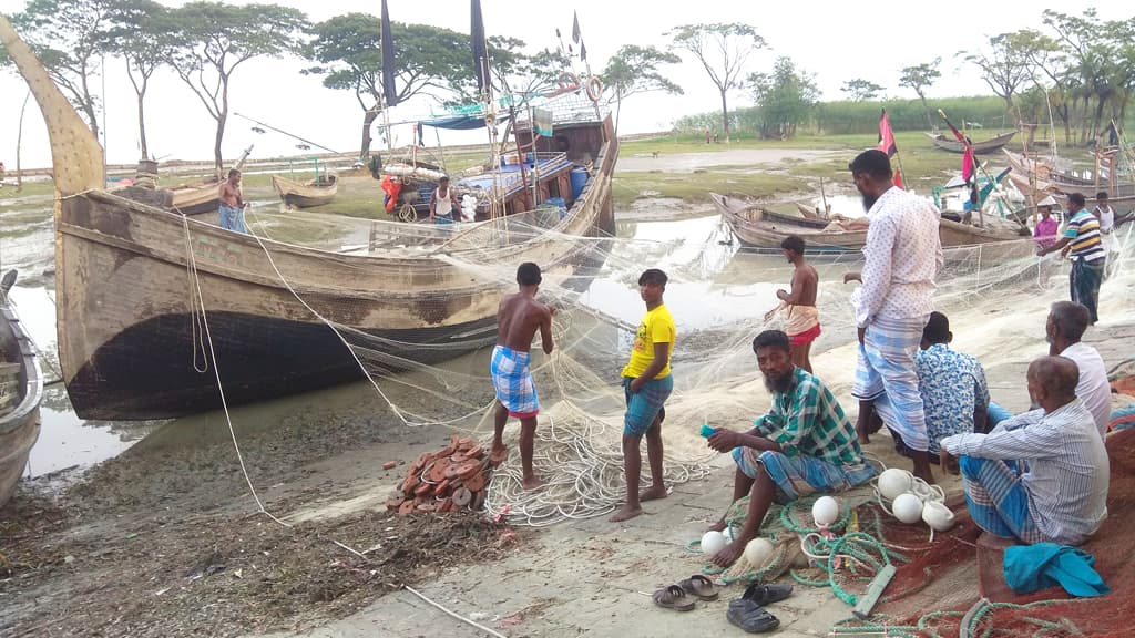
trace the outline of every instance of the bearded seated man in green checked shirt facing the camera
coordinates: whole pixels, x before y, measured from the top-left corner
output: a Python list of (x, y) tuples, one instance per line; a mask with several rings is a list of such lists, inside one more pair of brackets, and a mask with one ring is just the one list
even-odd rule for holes
[[(788, 335), (765, 330), (753, 339), (757, 366), (773, 395), (768, 413), (748, 433), (721, 428), (709, 447), (732, 451), (733, 502), (749, 495), (745, 526), (713, 562), (731, 565), (757, 536), (773, 501), (788, 503), (816, 492), (860, 485), (875, 475), (863, 460), (855, 427), (823, 381), (792, 364)], [(714, 529), (725, 528), (722, 519)]]

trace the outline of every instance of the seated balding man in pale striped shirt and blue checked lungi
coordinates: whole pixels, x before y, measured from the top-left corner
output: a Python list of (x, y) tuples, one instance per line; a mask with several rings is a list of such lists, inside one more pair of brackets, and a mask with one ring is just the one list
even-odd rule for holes
[(985, 531), (1024, 543), (1078, 545), (1108, 515), (1108, 453), (1095, 419), (1076, 397), (1079, 373), (1063, 356), (1028, 367), (1028, 394), (1041, 406), (990, 434), (942, 439), (941, 462), (958, 456), (969, 513)]

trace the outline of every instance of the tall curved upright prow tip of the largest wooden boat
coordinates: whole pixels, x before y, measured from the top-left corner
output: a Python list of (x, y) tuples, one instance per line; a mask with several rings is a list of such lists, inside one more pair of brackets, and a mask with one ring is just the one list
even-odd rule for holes
[(0, 42), (8, 50), (8, 57), (24, 76), (43, 112), (43, 120), (51, 136), (51, 170), (56, 190), (60, 195), (73, 195), (104, 187), (102, 146), (3, 15), (0, 15)]

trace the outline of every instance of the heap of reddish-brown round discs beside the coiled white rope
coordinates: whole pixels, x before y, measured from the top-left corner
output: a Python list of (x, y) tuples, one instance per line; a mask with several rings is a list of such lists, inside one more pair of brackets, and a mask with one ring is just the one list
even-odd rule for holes
[(427, 452), (406, 469), (402, 485), (386, 502), (400, 514), (480, 510), (489, 478), (489, 457), (471, 438), (454, 435), (449, 445)]

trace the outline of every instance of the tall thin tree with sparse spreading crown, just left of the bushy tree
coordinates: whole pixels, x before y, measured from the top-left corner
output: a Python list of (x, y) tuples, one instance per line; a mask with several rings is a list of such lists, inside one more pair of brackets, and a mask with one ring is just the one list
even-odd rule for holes
[(765, 48), (765, 40), (757, 31), (741, 23), (688, 24), (666, 32), (674, 47), (689, 51), (701, 62), (709, 79), (721, 93), (721, 127), (729, 142), (728, 94), (745, 84), (745, 65), (757, 49)]

